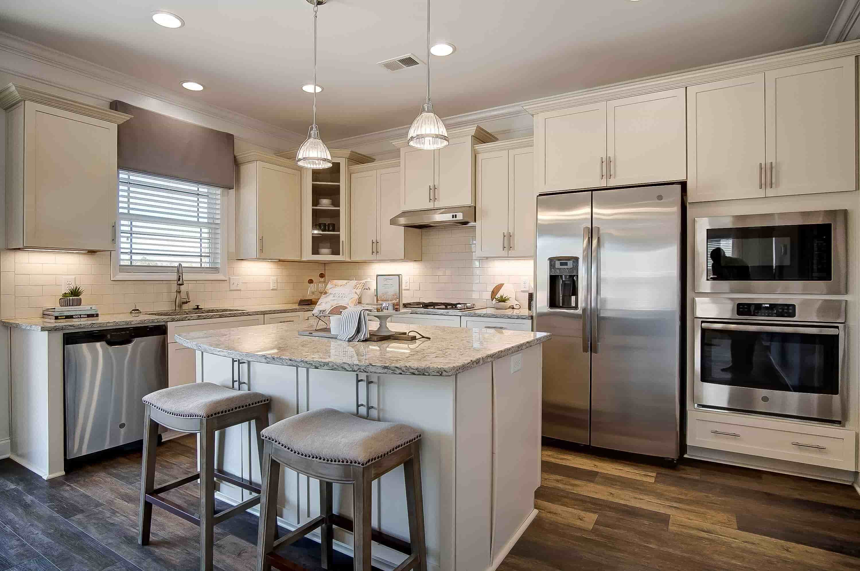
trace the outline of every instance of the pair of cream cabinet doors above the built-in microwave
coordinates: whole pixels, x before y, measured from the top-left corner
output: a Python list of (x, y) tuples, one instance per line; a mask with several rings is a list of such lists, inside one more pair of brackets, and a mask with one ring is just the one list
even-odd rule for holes
[(857, 189), (853, 57), (687, 88), (691, 202)]

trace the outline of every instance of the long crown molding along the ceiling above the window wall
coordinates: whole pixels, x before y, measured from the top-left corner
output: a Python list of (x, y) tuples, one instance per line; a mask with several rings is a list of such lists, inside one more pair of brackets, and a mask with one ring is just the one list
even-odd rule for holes
[[(202, 103), (193, 99), (183, 97), (181, 94), (164, 89), (163, 87), (150, 83), (137, 77), (129, 76), (121, 71), (115, 71), (99, 64), (94, 64), (82, 58), (76, 58), (64, 52), (59, 52), (47, 46), (42, 46), (35, 42), (24, 40), (12, 34), (0, 32), (0, 51), (9, 52), (16, 56), (27, 58), (41, 64), (46, 64), (51, 67), (58, 68), (63, 71), (68, 71), (79, 76), (88, 77), (95, 81), (107, 83), (120, 89), (133, 91), (138, 95), (144, 95), (157, 101), (168, 103), (176, 107), (193, 111), (194, 113), (203, 114), (213, 119), (222, 120), (232, 125), (240, 126), (252, 132), (257, 132), (267, 137), (277, 138), (283, 141), (283, 146), (290, 147), (295, 144), (301, 144), (304, 141), (304, 135), (297, 132), (292, 132), (287, 129), (273, 126), (265, 121), (254, 119), (248, 115), (224, 109), (208, 103)], [(15, 75), (18, 77), (26, 77), (34, 82), (49, 85), (56, 89), (63, 89), (95, 99), (110, 103), (116, 97), (106, 97), (101, 94), (77, 89), (66, 83), (52, 82), (46, 80), (45, 77), (34, 76), (21, 70), (0, 65), (0, 71)], [(144, 107), (144, 106), (140, 106)], [(264, 143), (261, 143), (264, 144)], [(269, 146), (264, 144), (265, 146)]]

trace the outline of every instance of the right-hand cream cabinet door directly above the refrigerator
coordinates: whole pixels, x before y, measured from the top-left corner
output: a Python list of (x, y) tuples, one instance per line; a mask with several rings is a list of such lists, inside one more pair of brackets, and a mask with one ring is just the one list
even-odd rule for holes
[(685, 89), (606, 103), (609, 184), (686, 178)]

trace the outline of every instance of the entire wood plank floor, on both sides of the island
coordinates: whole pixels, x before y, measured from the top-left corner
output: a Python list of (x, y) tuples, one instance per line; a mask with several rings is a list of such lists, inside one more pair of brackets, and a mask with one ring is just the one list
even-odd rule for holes
[[(194, 454), (194, 437), (159, 446), (157, 483), (194, 472)], [(139, 452), (48, 482), (0, 461), (0, 571), (198, 568), (197, 527), (163, 510), (153, 510), (151, 545), (138, 545), (139, 480)], [(553, 446), (544, 447), (542, 483), (540, 514), (500, 571), (860, 570), (860, 496), (850, 486)], [(196, 511), (196, 484), (169, 494)], [(216, 568), (253, 571), (256, 533), (248, 513), (218, 525)], [(320, 568), (318, 543), (305, 539), (280, 553)], [(335, 569), (352, 569), (347, 556), (335, 558)]]

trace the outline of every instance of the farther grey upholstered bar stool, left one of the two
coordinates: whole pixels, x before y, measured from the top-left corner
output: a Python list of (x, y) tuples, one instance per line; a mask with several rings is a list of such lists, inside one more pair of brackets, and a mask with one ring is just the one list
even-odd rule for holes
[[(232, 390), (213, 383), (181, 384), (144, 396), (144, 459), (140, 476), (138, 543), (150, 543), (152, 507), (157, 506), (200, 526), (200, 569), (212, 571), (213, 528), (260, 502), (260, 488), (239, 476), (215, 470), (215, 431), (254, 421), (260, 457), (260, 431), (268, 426), (269, 397), (250, 390)], [(182, 433), (200, 433), (200, 472), (155, 487), (158, 425)], [(250, 500), (215, 513), (215, 479), (254, 492)], [(200, 516), (187, 513), (160, 494), (200, 479)], [(274, 533), (275, 531), (273, 531)]]

